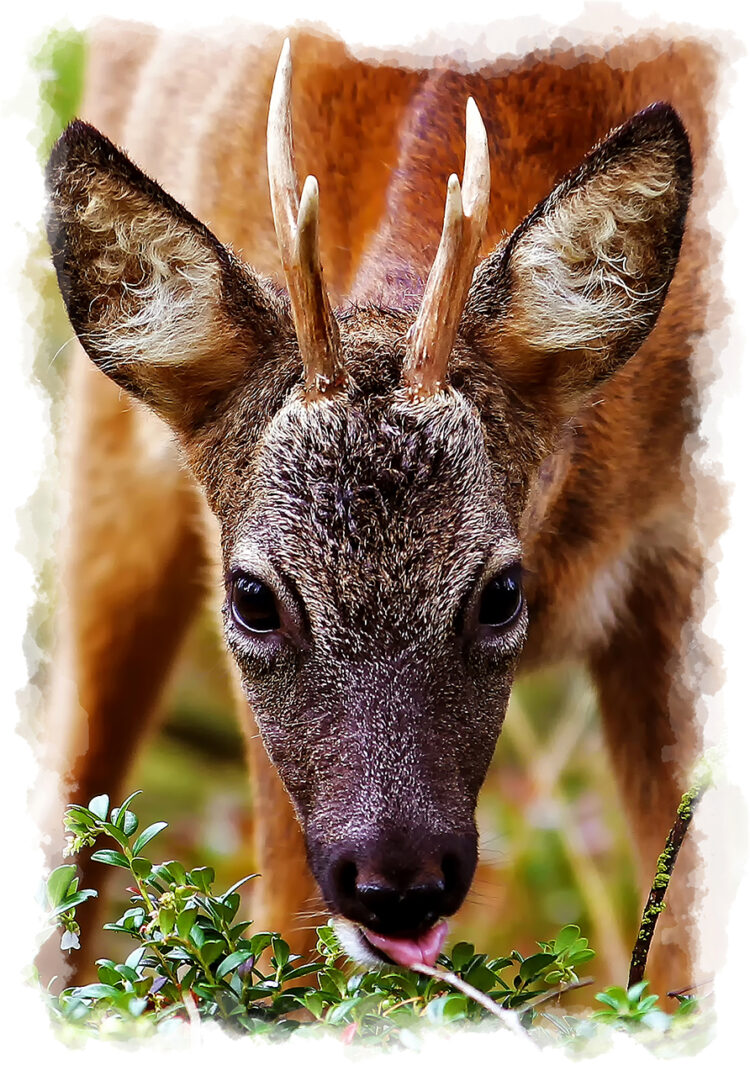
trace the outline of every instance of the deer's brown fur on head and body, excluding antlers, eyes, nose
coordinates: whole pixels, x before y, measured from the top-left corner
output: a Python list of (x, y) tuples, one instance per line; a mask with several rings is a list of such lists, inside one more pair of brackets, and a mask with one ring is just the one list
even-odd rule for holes
[[(71, 601), (60, 683), (72, 679), (77, 702), (58, 692), (53, 762), (74, 798), (104, 785), (114, 793), (122, 783), (200, 598), (203, 566), (220, 549), (184, 459), (218, 521), (225, 571), (238, 556), (252, 566), (272, 550), (306, 595), (315, 595), (307, 605), (314, 631), (323, 625), (315, 635), (323, 641), (307, 680), (293, 680), (291, 672), (264, 679), (227, 628), (245, 695), (306, 825), (313, 865), (315, 849), (342, 832), (343, 818), (353, 841), (369, 839), (379, 813), (388, 816), (393, 832), (436, 811), (456, 833), (473, 824), (476, 792), (523, 633), (504, 643), (499, 679), (486, 686), (490, 681), (476, 674), (471, 691), (481, 705), (472, 709), (458, 659), (440, 632), (453, 608), (444, 595), (466, 590), (492, 541), (503, 563), (523, 547), (528, 638), (522, 667), (567, 657), (591, 667), (646, 876), (695, 752), (692, 703), (680, 670), (699, 558), (682, 452), (695, 421), (690, 349), (704, 328), (703, 239), (693, 211), (659, 314), (679, 249), (678, 203), (689, 185), (679, 138), (661, 124), (647, 155), (631, 152), (625, 128), (617, 170), (602, 171), (613, 152), (608, 144), (604, 158), (589, 157), (552, 200), (548, 196), (613, 126), (667, 99), (690, 134), (699, 207), (713, 57), (687, 42), (646, 41), (602, 58), (563, 53), (500, 60), (481, 72), (421, 71), (364, 63), (337, 41), (293, 34), (297, 169), (320, 181), (331, 299), (355, 300), (339, 318), (352, 385), (345, 402), (326, 401), (321, 410), (296, 399), (300, 366), (287, 306), (277, 286), (256, 275), (281, 279), (265, 165), (280, 44), (275, 34), (258, 44), (250, 38), (172, 40), (124, 26), (97, 31), (85, 117), (124, 145), (176, 202), (119, 158), (108, 165), (93, 137), (79, 136), (73, 150), (70, 142), (58, 151), (55, 167), (65, 180), (57, 187), (62, 209), (53, 245), (73, 324), (89, 356), (167, 419), (182, 455), (158, 420), (76, 359), (79, 478), (68, 528)], [(122, 66), (116, 81), (110, 62)], [(439, 237), (445, 180), (461, 169), (468, 95), (490, 142), (493, 187), (483, 246), (490, 256), (475, 280), (449, 367), (453, 388), (410, 409), (399, 388), (404, 341)], [(124, 197), (122, 183), (135, 193)], [(99, 246), (77, 208), (84, 187), (119, 207), (121, 223), (113, 215), (102, 226), (107, 256), (116, 244), (124, 259), (104, 267), (107, 286), (116, 291), (126, 279), (141, 287), (136, 309), (150, 283), (144, 287), (143, 265), (166, 264), (162, 277), (171, 283), (175, 267), (190, 260), (183, 240), (197, 244), (192, 264), (194, 275), (196, 265), (202, 267), (203, 292), (188, 314), (189, 352), (175, 352), (170, 336), (162, 357), (152, 336), (128, 343), (127, 354), (116, 357), (123, 339), (131, 339), (127, 303), (133, 293), (113, 301), (102, 291)], [(640, 207), (625, 247), (602, 239), (609, 210), (596, 208), (604, 204), (600, 188), (607, 206), (621, 198), (628, 211)], [(582, 213), (578, 190), (588, 199)], [(541, 202), (510, 243), (491, 254)], [(168, 231), (165, 213), (172, 222)], [(624, 275), (618, 270), (618, 316), (607, 323), (592, 315), (584, 331), (579, 325), (578, 336), (568, 334), (565, 346), (552, 339), (560, 323), (540, 321), (544, 293), (524, 268), (529, 244), (560, 247), (555, 214), (568, 240), (577, 237), (563, 244), (569, 265), (598, 258), (607, 271), (627, 267)], [(89, 217), (98, 220), (93, 211)], [(222, 243), (231, 243), (254, 272)], [(158, 259), (144, 254), (157, 247)], [(600, 282), (599, 297), (607, 298), (608, 288)], [(99, 307), (89, 301), (95, 293)], [(188, 303), (196, 294), (186, 291)], [(486, 457), (472, 448), (479, 437)], [(295, 504), (305, 509), (289, 515), (297, 479), (303, 487)], [(345, 510), (336, 504), (341, 490), (351, 491)], [(425, 519), (439, 519), (439, 528), (420, 530)], [(382, 537), (374, 541), (373, 534)], [(369, 550), (365, 570), (362, 548)], [(428, 561), (414, 550), (427, 550)], [(388, 595), (397, 593), (401, 598), (388, 606)], [(393, 614), (390, 622), (362, 620), (363, 608), (381, 603)], [(386, 688), (394, 677), (397, 692)], [(313, 686), (327, 699), (325, 712)], [(303, 741), (294, 725), (282, 727), (269, 716), (280, 691), (293, 711), (296, 706), (297, 713), (314, 714)], [(429, 734), (413, 731), (410, 707), (429, 714)], [(391, 760), (385, 777), (362, 768), (373, 735), (366, 718), (378, 712), (387, 712), (398, 731), (393, 742), (387, 730), (377, 734)], [(338, 722), (335, 740), (326, 736), (331, 721)], [(243, 724), (252, 733), (249, 714)], [(261, 918), (283, 931), (310, 892), (305, 847), (288, 797), (252, 735), (249, 753), (263, 803), (256, 823), (266, 884)], [(466, 769), (469, 756), (473, 768)], [(400, 767), (396, 777), (394, 766)], [(402, 802), (404, 782), (429, 788), (433, 796), (412, 805), (409, 818), (393, 807)], [(685, 945), (684, 932), (674, 935), (670, 950), (665, 940), (662, 974), (671, 987), (689, 976)]]

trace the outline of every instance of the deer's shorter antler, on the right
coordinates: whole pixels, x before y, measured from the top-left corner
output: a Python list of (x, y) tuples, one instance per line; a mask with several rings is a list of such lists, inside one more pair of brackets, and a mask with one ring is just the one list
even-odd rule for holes
[(477, 265), (490, 209), (490, 152), (479, 109), (466, 102), (464, 189), (457, 175), (448, 181), (440, 245), (427, 278), (404, 365), (404, 381), (424, 399), (443, 384), (458, 322)]

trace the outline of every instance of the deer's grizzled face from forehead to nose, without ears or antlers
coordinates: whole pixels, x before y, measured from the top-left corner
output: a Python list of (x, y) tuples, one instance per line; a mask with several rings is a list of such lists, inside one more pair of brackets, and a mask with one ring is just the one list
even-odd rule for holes
[(463, 901), (525, 634), (476, 410), (289, 402), (227, 544), (226, 638), (335, 911), (422, 936)]

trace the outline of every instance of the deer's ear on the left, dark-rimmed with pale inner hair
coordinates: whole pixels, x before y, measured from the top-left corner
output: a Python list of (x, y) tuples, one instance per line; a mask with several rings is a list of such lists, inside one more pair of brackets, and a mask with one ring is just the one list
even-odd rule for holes
[(293, 334), (271, 291), (94, 127), (47, 168), (47, 233), (75, 332), (104, 373), (178, 428)]

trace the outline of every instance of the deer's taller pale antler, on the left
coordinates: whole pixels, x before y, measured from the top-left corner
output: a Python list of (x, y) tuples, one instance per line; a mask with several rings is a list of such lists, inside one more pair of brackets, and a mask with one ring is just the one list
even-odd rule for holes
[(292, 144), (292, 53), (284, 42), (268, 112), (268, 182), (273, 225), (292, 302), (308, 395), (329, 394), (344, 381), (339, 327), (323, 281), (317, 180), (308, 175), (301, 201)]

